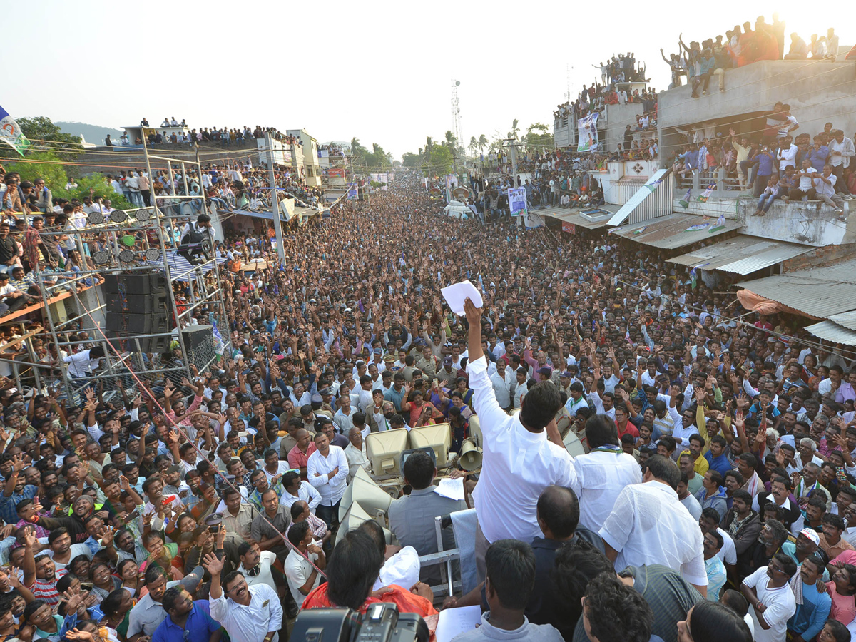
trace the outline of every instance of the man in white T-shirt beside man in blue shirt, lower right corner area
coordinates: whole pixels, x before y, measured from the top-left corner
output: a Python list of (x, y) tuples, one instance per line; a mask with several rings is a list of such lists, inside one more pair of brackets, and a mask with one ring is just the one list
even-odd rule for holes
[(785, 642), (788, 620), (797, 609), (789, 585), (796, 572), (797, 562), (780, 551), (770, 564), (758, 568), (740, 585), (740, 592), (749, 602), (755, 642)]

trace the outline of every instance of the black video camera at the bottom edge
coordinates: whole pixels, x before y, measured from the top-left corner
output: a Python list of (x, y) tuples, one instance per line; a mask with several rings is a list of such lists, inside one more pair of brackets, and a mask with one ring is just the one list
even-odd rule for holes
[(305, 642), (428, 642), (421, 615), (399, 613), (394, 603), (372, 604), (365, 614), (352, 609), (301, 610), (289, 639)]

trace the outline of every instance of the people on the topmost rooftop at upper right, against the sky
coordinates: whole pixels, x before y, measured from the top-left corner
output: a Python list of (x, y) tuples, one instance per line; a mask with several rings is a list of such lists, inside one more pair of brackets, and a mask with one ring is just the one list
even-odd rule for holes
[(817, 33), (811, 34), (811, 43), (806, 44), (796, 32), (790, 34), (788, 53), (785, 47), (785, 22), (773, 14), (772, 23), (766, 22), (759, 15), (752, 28), (752, 22), (746, 21), (743, 26), (734, 25), (728, 29), (723, 39), (704, 39), (700, 44), (691, 41), (684, 44), (682, 34), (678, 38), (678, 52), (669, 54), (666, 58), (660, 50), (663, 61), (671, 68), (672, 82), (669, 89), (681, 86), (682, 77), (693, 86), (693, 98), (698, 98), (698, 88), (702, 95), (707, 93), (710, 80), (716, 78), (719, 91), (724, 92), (725, 72), (731, 68), (743, 67), (761, 60), (811, 60), (835, 62), (838, 54), (838, 36), (835, 29), (830, 27), (825, 36), (818, 38)]

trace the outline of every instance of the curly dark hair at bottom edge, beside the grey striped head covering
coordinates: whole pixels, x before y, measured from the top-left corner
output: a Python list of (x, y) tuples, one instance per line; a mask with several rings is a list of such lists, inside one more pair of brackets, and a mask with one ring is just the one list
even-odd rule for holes
[(645, 599), (614, 571), (597, 575), (586, 587), (585, 611), (597, 639), (648, 642), (654, 614)]

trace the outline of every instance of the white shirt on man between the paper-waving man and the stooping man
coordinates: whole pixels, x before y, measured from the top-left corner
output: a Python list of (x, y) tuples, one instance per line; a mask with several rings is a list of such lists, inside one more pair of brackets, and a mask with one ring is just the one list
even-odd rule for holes
[(639, 464), (619, 446), (575, 457), (574, 470), (577, 479), (572, 488), (580, 498), (580, 526), (594, 532), (609, 517), (621, 490), (642, 483)]

